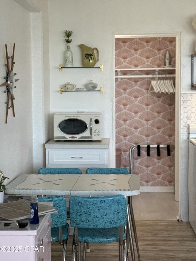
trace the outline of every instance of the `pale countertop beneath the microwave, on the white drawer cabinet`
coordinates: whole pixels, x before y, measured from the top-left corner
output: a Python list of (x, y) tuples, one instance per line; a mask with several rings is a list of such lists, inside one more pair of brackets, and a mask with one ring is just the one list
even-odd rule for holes
[(110, 144), (109, 138), (103, 138), (97, 141), (66, 141), (51, 139), (45, 144), (45, 148), (62, 148), (62, 149), (107, 149)]

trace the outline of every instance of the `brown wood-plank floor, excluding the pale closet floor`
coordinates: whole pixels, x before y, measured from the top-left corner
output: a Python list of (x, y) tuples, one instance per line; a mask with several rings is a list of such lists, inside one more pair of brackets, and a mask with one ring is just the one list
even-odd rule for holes
[[(141, 261), (196, 261), (196, 234), (189, 222), (136, 220), (136, 228)], [(67, 261), (72, 260), (72, 239), (68, 239)], [(61, 260), (62, 246), (55, 242), (51, 261)], [(118, 261), (118, 243), (90, 244), (86, 261), (92, 260)]]

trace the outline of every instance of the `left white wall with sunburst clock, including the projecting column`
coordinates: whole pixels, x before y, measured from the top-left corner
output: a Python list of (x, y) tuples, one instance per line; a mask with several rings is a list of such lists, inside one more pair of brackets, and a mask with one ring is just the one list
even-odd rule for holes
[[(20, 79), (14, 89), (15, 117), (10, 109), (7, 124), (4, 93), (6, 88), (0, 87), (0, 169), (13, 180), (21, 173), (32, 173), (43, 166), (43, 144), (49, 139), (47, 1), (2, 0), (0, 24), (1, 84), (6, 76), (5, 44), (8, 47), (8, 55), (11, 56), (15, 43), (16, 64), (13, 71), (17, 73), (16, 79)], [(9, 181), (5, 184), (7, 183)]]

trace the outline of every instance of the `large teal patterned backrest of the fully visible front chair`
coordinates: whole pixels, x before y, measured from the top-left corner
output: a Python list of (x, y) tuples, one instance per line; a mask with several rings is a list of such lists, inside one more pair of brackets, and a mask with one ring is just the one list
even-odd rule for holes
[(111, 228), (126, 225), (126, 198), (123, 195), (82, 197), (69, 201), (70, 224), (78, 228)]

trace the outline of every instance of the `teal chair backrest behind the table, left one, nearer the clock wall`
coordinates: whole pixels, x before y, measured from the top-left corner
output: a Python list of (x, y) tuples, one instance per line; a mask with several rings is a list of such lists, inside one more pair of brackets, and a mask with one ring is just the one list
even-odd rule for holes
[(82, 174), (78, 168), (41, 168), (38, 174)]

